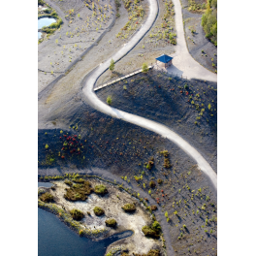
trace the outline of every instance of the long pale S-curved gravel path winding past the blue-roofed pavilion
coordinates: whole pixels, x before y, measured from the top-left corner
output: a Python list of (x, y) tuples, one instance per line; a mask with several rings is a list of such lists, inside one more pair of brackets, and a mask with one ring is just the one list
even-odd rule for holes
[[(179, 0), (174, 1), (175, 4), (176, 4), (176, 2), (179, 3)], [(114, 118), (119, 118), (124, 121), (134, 123), (136, 125), (144, 127), (145, 129), (155, 132), (155, 133), (161, 135), (162, 137), (167, 138), (170, 141), (172, 141), (173, 143), (177, 144), (181, 149), (183, 149), (190, 157), (192, 157), (197, 162), (198, 167), (201, 169), (202, 172), (204, 172), (209, 177), (209, 180), (211, 181), (213, 187), (215, 188), (215, 190), (217, 190), (217, 175), (212, 170), (212, 168), (209, 166), (209, 164), (205, 160), (205, 158), (193, 146), (188, 144), (181, 137), (179, 137), (175, 132), (173, 132), (170, 128), (168, 128), (167, 126), (165, 126), (163, 124), (146, 119), (146, 118), (141, 117), (136, 114), (122, 112), (122, 111), (119, 111), (117, 109), (114, 109), (114, 108), (108, 106), (107, 104), (105, 104), (101, 100), (99, 100), (99, 98), (96, 96), (96, 94), (93, 91), (93, 86), (94, 86), (95, 82), (109, 68), (111, 59), (113, 59), (114, 62), (116, 62), (120, 58), (122, 58), (125, 54), (127, 54), (132, 48), (134, 48), (140, 42), (140, 40), (144, 37), (145, 33), (151, 28), (152, 24), (154, 23), (154, 21), (156, 19), (157, 14), (158, 14), (158, 4), (157, 4), (156, 0), (148, 0), (148, 3), (149, 3), (149, 15), (147, 16), (147, 19), (146, 19), (144, 25), (140, 28), (140, 30), (134, 35), (134, 37), (126, 45), (123, 46), (123, 48), (119, 49), (107, 61), (101, 63), (83, 81), (84, 83), (81, 84), (82, 92), (84, 94), (83, 100), (85, 100), (87, 104), (89, 104), (92, 108), (98, 110), (99, 112), (104, 112), (108, 115), (111, 115)], [(180, 6), (180, 4), (179, 4), (179, 6)], [(181, 9), (180, 9), (180, 13), (181, 13)], [(181, 16), (181, 19), (182, 19), (182, 16)], [(180, 24), (177, 23), (176, 25), (180, 25)], [(177, 28), (177, 31), (178, 30), (180, 30), (180, 28)], [(182, 31), (183, 31), (183, 26), (182, 26)], [(178, 40), (181, 38), (181, 36), (182, 36), (182, 34), (177, 33)], [(184, 37), (183, 37), (183, 41), (184, 41)], [(178, 46), (180, 47), (179, 50), (181, 50), (182, 42), (180, 44), (178, 44)], [(187, 48), (186, 48), (186, 50), (187, 50)], [(188, 54), (189, 54), (189, 52), (188, 52)], [(190, 56), (190, 58), (192, 60), (194, 60), (191, 56)], [(199, 64), (197, 63), (197, 65), (199, 65)], [(204, 68), (202, 67), (202, 69), (204, 69)], [(214, 74), (212, 74), (212, 75), (214, 75)], [(186, 75), (186, 76), (188, 76), (188, 75)], [(141, 193), (143, 194), (143, 191), (141, 191)], [(164, 219), (164, 215), (163, 216), (162, 215), (163, 215), (162, 212), (159, 212), (159, 216), (161, 216), (161, 218), (160, 218), (161, 225), (163, 225), (163, 219)], [(168, 255), (174, 255), (174, 249), (171, 245), (171, 239), (170, 239), (170, 234), (169, 234), (168, 230), (164, 231), (164, 236), (165, 236), (166, 240), (168, 239), (167, 244), (166, 244)]]

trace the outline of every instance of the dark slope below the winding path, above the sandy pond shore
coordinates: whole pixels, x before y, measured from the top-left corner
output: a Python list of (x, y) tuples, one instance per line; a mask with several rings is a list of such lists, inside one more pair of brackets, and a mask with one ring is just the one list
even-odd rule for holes
[[(176, 255), (189, 253), (188, 249), (191, 255), (195, 255), (194, 250), (200, 255), (215, 255), (216, 224), (213, 216), (216, 216), (216, 195), (210, 189), (208, 179), (197, 170), (193, 160), (176, 144), (143, 128), (94, 111), (81, 101), (73, 99), (69, 104), (63, 105), (64, 108), (61, 106), (59, 109), (51, 110), (48, 119), (45, 120), (48, 127), (51, 123), (55, 129), (39, 130), (39, 175), (52, 175), (56, 169), (60, 175), (99, 168), (121, 176), (127, 182), (135, 183), (138, 188), (144, 189), (146, 193), (151, 192), (152, 197), (159, 202), (158, 207), (168, 211), (170, 220), (166, 225), (170, 228)], [(58, 120), (61, 120), (61, 125)], [(63, 133), (60, 133), (61, 130)], [(64, 137), (64, 134), (73, 135), (78, 142), (72, 140), (74, 144), (82, 144), (80, 154), (77, 150), (78, 146), (75, 146), (76, 152), (73, 153), (70, 150), (74, 147), (61, 150), (64, 138), (65, 141), (68, 138)], [(164, 156), (160, 155), (159, 151), (164, 149), (170, 152), (169, 159), (172, 164), (170, 169), (163, 167)], [(62, 155), (65, 156), (64, 159), (61, 158)], [(144, 167), (144, 163), (151, 157), (154, 158), (154, 165), (149, 171)], [(149, 181), (158, 178), (161, 178), (163, 183), (159, 185), (156, 182), (156, 187), (150, 188)], [(200, 188), (202, 192), (196, 196)], [(163, 193), (160, 193), (161, 190)], [(206, 200), (207, 196), (208, 200)], [(181, 201), (177, 205), (176, 202), (179, 200)], [(175, 208), (173, 208), (174, 202)], [(214, 207), (211, 207), (211, 203)], [(206, 208), (202, 209), (204, 204)], [(197, 209), (198, 213), (196, 213)], [(174, 214), (175, 210), (178, 216)], [(206, 226), (207, 219), (210, 221)], [(185, 230), (182, 228), (184, 224)], [(181, 228), (183, 231), (180, 230)], [(180, 233), (182, 237), (179, 240)]]

